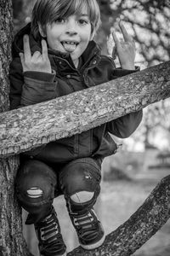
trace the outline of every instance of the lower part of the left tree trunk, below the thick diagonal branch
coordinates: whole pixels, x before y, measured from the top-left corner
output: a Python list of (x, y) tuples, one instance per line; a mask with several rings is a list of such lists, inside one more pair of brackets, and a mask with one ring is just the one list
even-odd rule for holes
[(21, 211), (14, 197), (19, 157), (0, 162), (0, 256), (31, 256), (22, 235)]

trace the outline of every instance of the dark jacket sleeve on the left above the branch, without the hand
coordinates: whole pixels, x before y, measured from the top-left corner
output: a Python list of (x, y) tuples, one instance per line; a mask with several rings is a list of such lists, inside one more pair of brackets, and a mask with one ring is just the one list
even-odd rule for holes
[(20, 58), (9, 67), (10, 108), (21, 108), (57, 97), (55, 73), (22, 72)]

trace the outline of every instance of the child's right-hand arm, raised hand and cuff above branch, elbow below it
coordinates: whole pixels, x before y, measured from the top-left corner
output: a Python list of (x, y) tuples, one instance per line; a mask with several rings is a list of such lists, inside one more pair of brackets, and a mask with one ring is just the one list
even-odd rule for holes
[[(124, 38), (124, 42), (120, 42), (116, 37), (116, 33), (114, 31), (112, 32), (113, 39), (116, 44), (116, 53), (122, 67), (122, 69), (114, 70), (115, 79), (139, 70), (135, 70), (134, 66), (135, 44), (133, 38), (127, 33), (125, 27), (122, 25), (122, 22), (120, 22), (120, 28)], [(135, 131), (139, 126), (142, 120), (142, 116), (142, 110), (135, 113), (128, 113), (125, 116), (122, 116), (107, 123), (107, 131), (110, 131), (116, 137), (129, 137), (133, 133), (133, 131)]]

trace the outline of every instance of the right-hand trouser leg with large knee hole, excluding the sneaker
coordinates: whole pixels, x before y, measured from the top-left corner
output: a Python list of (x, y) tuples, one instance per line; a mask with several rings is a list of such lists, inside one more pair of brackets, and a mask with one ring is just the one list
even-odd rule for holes
[(95, 160), (71, 161), (59, 173), (59, 183), (70, 212), (93, 207), (100, 191), (100, 168)]

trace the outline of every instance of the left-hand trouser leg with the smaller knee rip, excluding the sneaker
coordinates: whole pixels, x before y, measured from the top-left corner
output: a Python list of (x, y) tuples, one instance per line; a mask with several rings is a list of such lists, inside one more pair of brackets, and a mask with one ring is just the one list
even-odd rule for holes
[(57, 177), (49, 166), (39, 160), (26, 160), (16, 177), (16, 195), (21, 207), (30, 213), (27, 220), (33, 224), (50, 212), (54, 200)]

